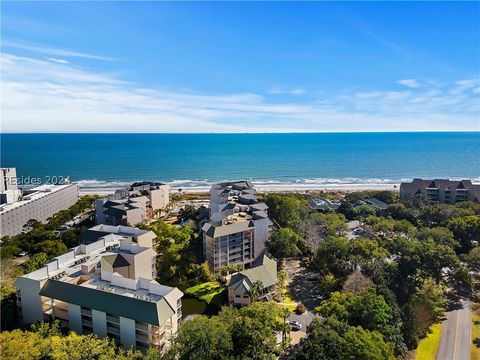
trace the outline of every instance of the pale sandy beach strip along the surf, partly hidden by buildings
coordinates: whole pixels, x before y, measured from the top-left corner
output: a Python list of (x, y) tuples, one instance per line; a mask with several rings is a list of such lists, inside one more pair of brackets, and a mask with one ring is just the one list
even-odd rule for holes
[[(258, 185), (254, 184), (255, 189), (259, 193), (266, 192), (278, 192), (278, 193), (288, 193), (288, 192), (320, 192), (320, 191), (339, 191), (339, 192), (353, 192), (353, 191), (365, 191), (365, 190), (395, 190), (395, 185), (397, 186), (396, 190), (400, 188), (400, 183), (363, 183), (363, 184), (269, 184), (269, 185)], [(101, 188), (80, 188), (79, 195), (98, 195), (98, 196), (107, 196), (113, 194), (117, 189), (101, 189)], [(181, 190), (184, 194), (201, 194), (208, 193), (210, 186), (192, 186), (192, 187), (175, 187), (172, 186), (171, 194), (177, 194)]]

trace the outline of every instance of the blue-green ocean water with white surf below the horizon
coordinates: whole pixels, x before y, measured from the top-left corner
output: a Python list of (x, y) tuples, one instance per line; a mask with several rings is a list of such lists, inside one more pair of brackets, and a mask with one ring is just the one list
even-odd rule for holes
[(480, 132), (315, 134), (2, 134), (20, 181), (69, 176), (83, 189), (135, 180), (206, 189), (250, 179), (278, 187), (480, 181)]

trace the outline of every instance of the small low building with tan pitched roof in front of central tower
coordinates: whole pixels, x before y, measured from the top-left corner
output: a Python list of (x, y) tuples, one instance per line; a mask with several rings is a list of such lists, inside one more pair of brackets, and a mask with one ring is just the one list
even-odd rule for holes
[(272, 300), (277, 287), (277, 262), (268, 253), (256, 259), (250, 269), (232, 275), (228, 284), (228, 302), (236, 306), (250, 305), (256, 283), (261, 285), (256, 300)]

